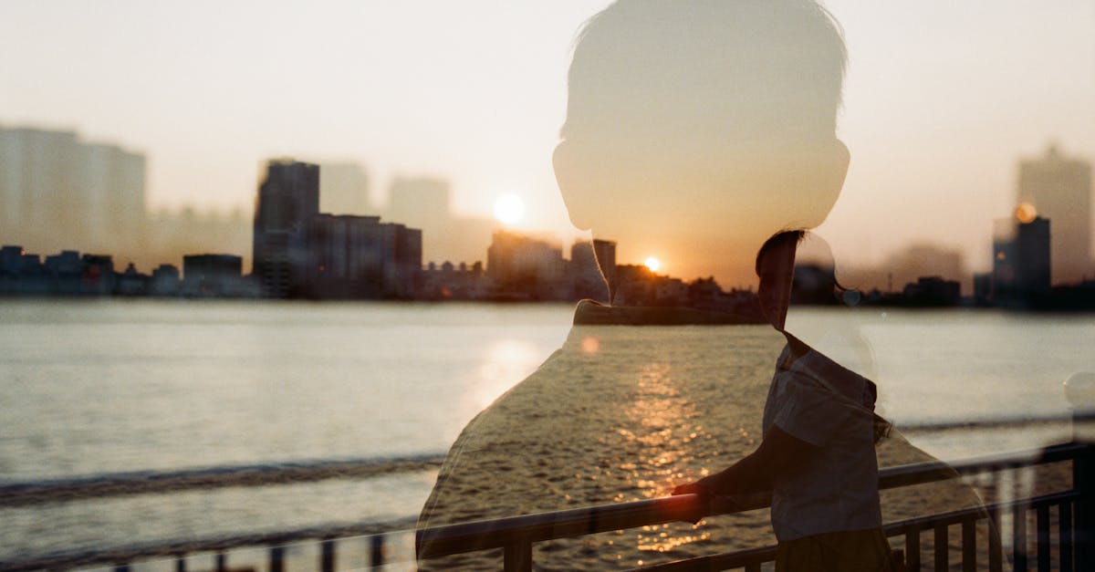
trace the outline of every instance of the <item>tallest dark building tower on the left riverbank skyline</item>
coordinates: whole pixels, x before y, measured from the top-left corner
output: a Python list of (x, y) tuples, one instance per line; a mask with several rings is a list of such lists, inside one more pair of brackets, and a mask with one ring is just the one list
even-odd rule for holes
[(307, 290), (309, 225), (319, 213), (319, 165), (270, 161), (258, 186), (252, 251), (252, 274), (264, 296), (288, 298)]

